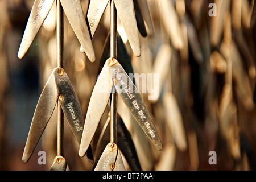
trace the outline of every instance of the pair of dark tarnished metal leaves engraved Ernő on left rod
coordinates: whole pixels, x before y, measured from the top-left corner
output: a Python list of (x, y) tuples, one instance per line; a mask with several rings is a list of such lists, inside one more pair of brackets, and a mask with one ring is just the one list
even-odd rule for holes
[[(75, 135), (77, 142), (81, 142), (84, 129), (84, 119), (80, 102), (72, 88), (71, 82), (63, 68), (55, 68), (47, 81), (46, 86), (39, 98), (34, 117), (32, 119), (27, 143), (23, 153), (23, 162), (26, 163), (34, 151), (46, 125), (51, 118), (56, 102), (59, 99), (65, 118)], [(92, 149), (88, 146), (89, 152), (86, 157), (89, 163), (93, 163)], [(87, 151), (87, 150), (86, 150)]]

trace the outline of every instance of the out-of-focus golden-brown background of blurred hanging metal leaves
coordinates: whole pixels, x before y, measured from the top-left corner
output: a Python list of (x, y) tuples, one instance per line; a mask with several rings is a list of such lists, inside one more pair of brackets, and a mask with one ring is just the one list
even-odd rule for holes
[[(156, 150), (118, 102), (118, 113), (131, 133), (142, 170), (255, 170), (254, 0), (136, 2), (147, 30), (147, 36), (140, 35), (142, 54), (133, 55), (119, 22), (118, 32), (127, 51), (119, 51), (119, 57), (125, 55), (131, 61), (134, 73), (159, 73), (159, 98), (148, 100), (148, 93), (141, 95), (163, 142), (163, 150)], [(27, 54), (23, 59), (17, 57), (33, 3), (0, 0), (0, 170), (48, 170), (56, 156), (53, 113), (30, 161), (22, 163), (36, 103), (57, 65), (56, 3)], [(86, 14), (89, 0), (81, 3)], [(211, 11), (210, 3), (215, 3), (216, 12)], [(96, 61), (90, 63), (64, 15), (64, 69), (84, 115), (102, 60), (108, 58), (103, 49), (109, 17), (108, 6), (92, 39)], [(108, 111), (109, 107), (93, 139), (93, 152)], [(74, 141), (65, 122), (64, 158), (69, 168), (92, 170), (93, 165), (80, 158)], [(38, 164), (42, 150), (46, 165)], [(210, 151), (216, 151), (217, 164), (209, 164)], [(125, 166), (131, 169), (127, 162)]]

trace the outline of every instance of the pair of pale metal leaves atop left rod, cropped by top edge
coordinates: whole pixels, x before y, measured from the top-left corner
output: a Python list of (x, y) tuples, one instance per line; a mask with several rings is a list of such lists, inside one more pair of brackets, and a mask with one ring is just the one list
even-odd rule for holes
[[(27, 52), (28, 48), (31, 46), (31, 43), (35, 39), (36, 34), (40, 27), (42, 26), (44, 20), (46, 19), (49, 11), (51, 10), (53, 0), (44, 1), (36, 0), (30, 17), (28, 18), (28, 23), (26, 30), (23, 35), (22, 42), (20, 44), (18, 57), (21, 59)], [(95, 53), (90, 38), (90, 33), (85, 22), (84, 11), (82, 10), (80, 0), (75, 1), (61, 1), (64, 12), (71, 24), (77, 39), (81, 43), (82, 47), (85, 49), (85, 53), (88, 56), (88, 59), (92, 62), (95, 61)]]

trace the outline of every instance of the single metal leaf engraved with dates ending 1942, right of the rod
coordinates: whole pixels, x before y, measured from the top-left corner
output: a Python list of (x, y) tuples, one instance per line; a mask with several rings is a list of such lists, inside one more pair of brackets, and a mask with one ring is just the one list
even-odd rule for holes
[(158, 148), (158, 150), (162, 150), (162, 142), (155, 129), (150, 114), (148, 113), (146, 105), (139, 94), (139, 90), (116, 59), (110, 58), (106, 63), (108, 65), (110, 77), (114, 77), (114, 85), (117, 93), (121, 96), (133, 117), (142, 127), (144, 133), (146, 133), (146, 135), (155, 144), (155, 147)]

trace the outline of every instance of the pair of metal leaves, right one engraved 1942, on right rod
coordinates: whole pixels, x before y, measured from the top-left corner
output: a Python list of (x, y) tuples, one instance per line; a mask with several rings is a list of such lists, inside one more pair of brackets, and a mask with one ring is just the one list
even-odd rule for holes
[[(114, 75), (112, 75), (112, 73), (114, 73)], [(120, 74), (125, 76), (127, 81), (126, 83), (122, 83), (122, 80), (119, 79)], [(118, 63), (118, 61), (116, 59), (110, 58), (106, 61), (104, 67), (102, 68), (102, 72), (98, 77), (96, 85), (93, 89), (92, 97), (90, 98), (79, 155), (85, 155), (85, 151), (92, 141), (98, 123), (100, 122), (102, 114), (104, 113), (106, 105), (108, 104), (110, 88), (112, 88), (112, 81), (110, 80), (112, 79), (115, 79), (114, 84), (115, 88), (117, 89), (117, 93), (121, 96), (123, 102), (129, 108), (131, 114), (133, 114), (133, 117), (142, 127), (147, 136), (155, 144), (156, 148), (158, 148), (158, 150), (162, 150), (162, 142), (155, 129), (150, 114), (148, 113), (146, 106), (144, 105), (144, 102), (139, 94), (138, 89), (135, 87), (133, 81), (130, 80), (129, 76)], [(120, 85), (122, 84), (126, 85), (122, 86), (121, 88)], [(105, 86), (105, 88), (102, 89), (102, 86)], [(132, 87), (130, 88), (130, 86)], [(129, 91), (130, 89), (132, 90)], [(101, 98), (102, 101), (100, 104), (98, 103), (99, 98)]]

